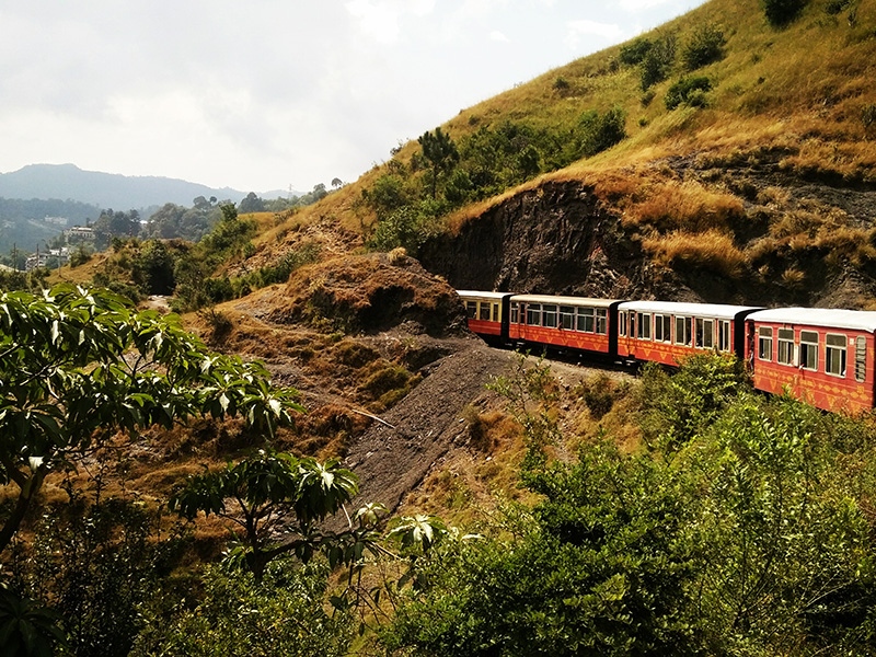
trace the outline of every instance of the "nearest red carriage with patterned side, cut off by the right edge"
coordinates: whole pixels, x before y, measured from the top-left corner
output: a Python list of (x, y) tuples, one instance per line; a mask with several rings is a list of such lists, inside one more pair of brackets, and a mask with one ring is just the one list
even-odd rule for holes
[(776, 308), (747, 320), (754, 387), (825, 411), (874, 406), (876, 312)]

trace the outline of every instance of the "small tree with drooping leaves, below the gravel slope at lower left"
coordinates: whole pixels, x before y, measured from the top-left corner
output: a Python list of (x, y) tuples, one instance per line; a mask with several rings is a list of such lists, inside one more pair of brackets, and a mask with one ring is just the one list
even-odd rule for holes
[[(243, 537), (238, 556), (261, 581), (267, 564), (290, 552), (307, 563), (322, 550), (333, 566), (361, 558), (377, 538), (366, 515), (357, 514), (359, 528), (339, 533), (319, 526), (358, 491), (356, 475), (336, 459), (319, 463), (260, 450), (237, 464), (188, 477), (170, 508), (187, 518), (203, 511), (239, 526)], [(279, 529), (287, 537), (284, 541), (276, 539)]]

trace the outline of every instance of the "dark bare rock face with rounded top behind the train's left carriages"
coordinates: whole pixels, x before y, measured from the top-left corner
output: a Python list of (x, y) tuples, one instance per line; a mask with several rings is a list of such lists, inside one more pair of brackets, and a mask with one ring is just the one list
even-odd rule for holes
[(639, 250), (580, 183), (548, 183), (428, 242), (420, 260), (457, 289), (622, 297), (645, 286)]

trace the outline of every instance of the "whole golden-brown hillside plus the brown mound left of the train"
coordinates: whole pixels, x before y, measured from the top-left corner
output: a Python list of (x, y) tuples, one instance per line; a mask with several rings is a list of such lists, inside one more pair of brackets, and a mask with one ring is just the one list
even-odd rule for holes
[[(215, 300), (240, 297), (193, 325), (334, 418), (300, 445), (353, 454), (358, 411), (470, 353), (436, 346), (453, 287), (874, 308), (874, 67), (876, 0), (812, 0), (782, 26), (758, 0), (713, 0), (462, 111), (441, 166), (412, 141), (313, 206), (257, 216), (206, 284), (192, 269)], [(416, 401), (433, 396), (406, 417), (434, 417)]]

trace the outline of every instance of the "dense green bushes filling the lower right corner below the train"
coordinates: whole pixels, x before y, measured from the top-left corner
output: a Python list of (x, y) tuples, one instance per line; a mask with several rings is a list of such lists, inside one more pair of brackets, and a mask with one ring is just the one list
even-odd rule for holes
[[(506, 394), (528, 439), (497, 537), (413, 565), (383, 647), (405, 655), (873, 655), (876, 433), (698, 356), (643, 374), (650, 448), (552, 460), (551, 381)], [(538, 368), (531, 371), (539, 372)], [(533, 433), (534, 431), (534, 433)], [(681, 440), (680, 438), (683, 438)], [(546, 449), (545, 449), (546, 448)]]

